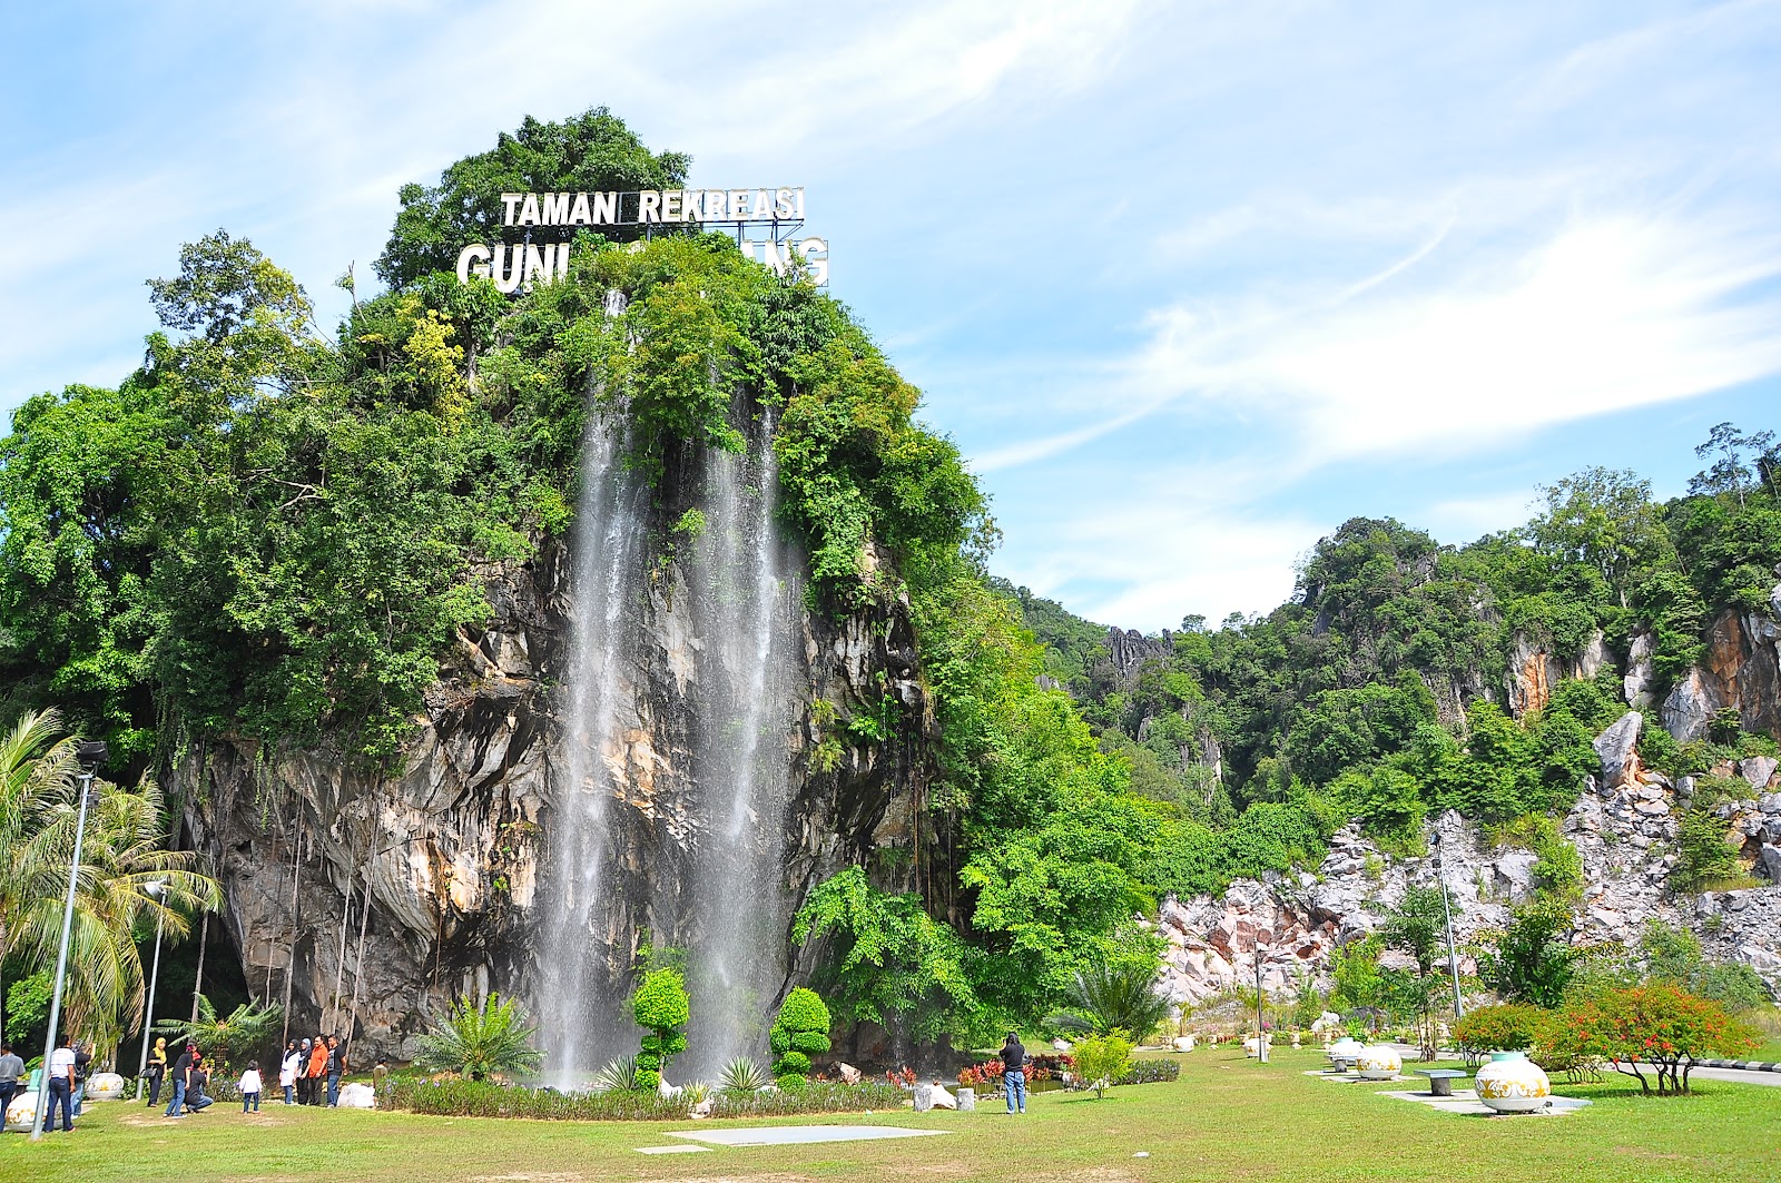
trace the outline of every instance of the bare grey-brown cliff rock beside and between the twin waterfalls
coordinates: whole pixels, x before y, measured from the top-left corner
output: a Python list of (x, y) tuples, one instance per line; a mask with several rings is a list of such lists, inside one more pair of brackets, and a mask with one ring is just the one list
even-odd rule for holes
[[(479, 572), (490, 622), (459, 634), (395, 771), (379, 775), (326, 748), (262, 752), (239, 739), (192, 750), (171, 770), (192, 848), (223, 882), (221, 921), (246, 978), (256, 994), (289, 999), (292, 1032), (353, 1030), (354, 1060), (408, 1058), (429, 1012), (451, 998), (538, 989), (536, 921), (559, 791), (552, 752), (573, 723), (556, 689), (573, 608), (565, 551), (547, 542), (531, 561)], [(687, 656), (702, 638), (684, 632), (666, 581), (650, 593), (652, 657), (630, 679), (638, 693), (623, 729), (627, 764), (650, 775), (634, 777), (613, 809), (625, 844), (620, 875), (630, 880), (623, 891), (655, 909), (638, 921), (673, 935), (680, 885), (652, 878), (652, 852), (686, 837), (671, 804), (696, 786), (686, 745), (673, 739), (684, 707), (663, 688), (696, 677)], [(903, 602), (839, 620), (803, 613), (796, 659), (807, 707), (785, 738), (794, 903), (842, 866), (917, 841), (933, 723), (914, 652)], [(810, 750), (839, 730), (835, 716), (882, 709), (887, 695), (903, 711), (896, 738), (841, 736), (832, 764), (812, 763)], [(809, 706), (817, 702), (828, 707)], [(869, 864), (892, 877), (885, 885), (910, 887), (883, 871), (910, 859)], [(784, 960), (807, 971), (817, 950), (782, 939)]]

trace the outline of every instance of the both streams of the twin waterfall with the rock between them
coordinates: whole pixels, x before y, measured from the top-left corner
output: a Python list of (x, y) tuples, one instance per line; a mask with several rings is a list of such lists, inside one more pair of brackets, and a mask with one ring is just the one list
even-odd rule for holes
[[(636, 1051), (623, 987), (643, 928), (686, 955), (693, 1021), (675, 1081), (762, 1058), (785, 983), (801, 565), (775, 522), (771, 413), (743, 396), (732, 419), (744, 453), (687, 453), (654, 488), (625, 465), (629, 415), (591, 412), (534, 928), (533, 1001), (557, 1087)], [(657, 518), (686, 501), (705, 527), (657, 563)]]

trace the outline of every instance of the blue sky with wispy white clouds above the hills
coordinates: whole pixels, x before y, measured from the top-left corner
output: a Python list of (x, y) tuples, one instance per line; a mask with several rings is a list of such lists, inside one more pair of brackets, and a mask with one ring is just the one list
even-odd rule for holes
[(217, 226), (338, 315), (403, 182), (607, 105), (809, 191), (834, 292), (1124, 627), (1277, 604), (1352, 515), (1676, 494), (1781, 428), (1781, 4), (9, 5), (0, 406), (110, 385)]

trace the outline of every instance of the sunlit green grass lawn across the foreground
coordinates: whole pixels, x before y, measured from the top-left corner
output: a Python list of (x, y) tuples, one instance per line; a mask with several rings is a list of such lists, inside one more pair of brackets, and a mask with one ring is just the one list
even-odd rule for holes
[[(686, 1179), (1468, 1179), (1530, 1183), (1781, 1178), (1781, 1089), (1697, 1083), (1694, 1097), (1646, 1099), (1630, 1080), (1560, 1087), (1594, 1101), (1573, 1117), (1457, 1117), (1377, 1096), (1411, 1085), (1304, 1076), (1314, 1051), (1268, 1065), (1232, 1049), (1181, 1057), (1179, 1083), (1127, 1085), (1104, 1101), (1045, 1092), (1022, 1117), (997, 1108), (826, 1115), (753, 1124), (898, 1124), (940, 1138), (638, 1154), (700, 1122), (543, 1122), (413, 1117), (217, 1103), (166, 1121), (130, 1103), (94, 1105), (73, 1135), (0, 1138), (0, 1179), (221, 1183), (226, 1179), (468, 1179), (577, 1183)], [(727, 1122), (725, 1128), (734, 1128)], [(1149, 1151), (1149, 1158), (1133, 1158)], [(1765, 1176), (1765, 1171), (1776, 1174)]]

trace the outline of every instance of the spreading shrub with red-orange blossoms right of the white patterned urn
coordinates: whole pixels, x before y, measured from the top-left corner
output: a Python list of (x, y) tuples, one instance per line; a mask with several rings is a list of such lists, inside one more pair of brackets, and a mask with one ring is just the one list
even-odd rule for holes
[(1614, 1071), (1637, 1078), (1646, 1092), (1651, 1092), (1644, 1073), (1649, 1067), (1658, 1096), (1672, 1096), (1688, 1092), (1688, 1073), (1699, 1060), (1749, 1051), (1756, 1037), (1719, 1003), (1669, 982), (1651, 982), (1601, 991), (1573, 1005), (1557, 1042), (1601, 1057)]

